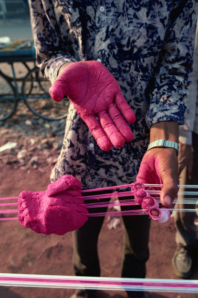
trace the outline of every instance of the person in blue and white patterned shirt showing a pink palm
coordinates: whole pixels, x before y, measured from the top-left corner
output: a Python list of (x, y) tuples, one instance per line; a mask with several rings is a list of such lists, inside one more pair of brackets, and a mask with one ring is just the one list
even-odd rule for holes
[[(169, 146), (178, 143), (178, 127), (187, 115), (183, 99), (192, 71), (196, 1), (32, 0), (30, 7), (37, 64), (52, 83), (50, 94), (71, 101), (51, 181), (71, 174), (83, 189), (136, 179), (163, 184), (161, 203), (173, 207), (178, 160)], [(149, 141), (159, 139), (170, 145), (154, 143), (147, 151)], [(73, 232), (77, 276), (100, 276), (97, 239), (103, 220), (90, 217)], [(123, 221), (122, 277), (145, 278), (150, 219), (123, 216)], [(83, 289), (75, 293), (94, 295)]]

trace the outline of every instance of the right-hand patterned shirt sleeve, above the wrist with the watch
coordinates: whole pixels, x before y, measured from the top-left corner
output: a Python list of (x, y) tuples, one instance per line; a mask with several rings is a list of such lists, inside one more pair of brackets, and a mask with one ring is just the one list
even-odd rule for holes
[(161, 51), (146, 121), (149, 127), (160, 121), (184, 124), (184, 104), (192, 72), (197, 20), (197, 0), (176, 1)]

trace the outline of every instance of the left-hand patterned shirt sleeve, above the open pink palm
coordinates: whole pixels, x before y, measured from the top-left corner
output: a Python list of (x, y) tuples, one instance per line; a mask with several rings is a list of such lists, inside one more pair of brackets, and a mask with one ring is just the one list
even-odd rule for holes
[(67, 43), (62, 46), (61, 32), (53, 4), (50, 2), (48, 0), (31, 1), (30, 16), (37, 65), (45, 78), (52, 83), (64, 63), (76, 62), (78, 59), (70, 53)]

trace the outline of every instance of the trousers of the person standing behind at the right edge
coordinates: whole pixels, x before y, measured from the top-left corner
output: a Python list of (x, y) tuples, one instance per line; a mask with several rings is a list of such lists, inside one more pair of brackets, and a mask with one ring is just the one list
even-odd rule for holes
[[(179, 177), (179, 183), (181, 185), (197, 185), (198, 183), (198, 134), (192, 134), (192, 148), (193, 148), (193, 167), (192, 167), (192, 179), (187, 177), (187, 168), (185, 167)], [(195, 191), (194, 188), (180, 188), (180, 191)], [(184, 195), (178, 196), (183, 198)], [(191, 198), (195, 196), (185, 196), (185, 198)], [(193, 209), (193, 204), (177, 203), (175, 208), (179, 209)], [(174, 215), (174, 222), (176, 228), (175, 241), (178, 246), (183, 246), (188, 249), (194, 249), (197, 242), (196, 226), (194, 224), (193, 212), (176, 211)]]

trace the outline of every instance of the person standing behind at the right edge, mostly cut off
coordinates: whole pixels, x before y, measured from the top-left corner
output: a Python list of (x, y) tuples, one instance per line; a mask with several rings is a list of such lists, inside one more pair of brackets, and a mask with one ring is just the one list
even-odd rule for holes
[[(193, 54), (192, 84), (185, 104), (189, 107), (186, 123), (179, 127), (179, 182), (180, 185), (197, 185), (198, 182), (198, 26), (196, 27), (195, 48)], [(181, 187), (181, 191), (195, 191), (193, 188)], [(178, 196), (183, 197), (182, 195)], [(192, 195), (185, 196), (185, 198)], [(175, 208), (192, 209), (192, 204), (178, 202)], [(196, 263), (197, 233), (195, 216), (188, 211), (174, 214), (176, 228), (175, 242), (177, 248), (172, 258), (173, 272), (181, 278), (190, 278)]]

